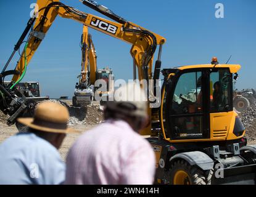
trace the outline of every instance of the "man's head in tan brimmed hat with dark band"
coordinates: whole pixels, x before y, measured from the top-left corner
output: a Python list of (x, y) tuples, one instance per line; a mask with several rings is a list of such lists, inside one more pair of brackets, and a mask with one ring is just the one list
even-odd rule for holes
[(44, 102), (36, 107), (34, 118), (19, 118), (18, 121), (28, 126), (28, 132), (33, 132), (59, 149), (66, 134), (75, 132), (68, 128), (68, 119), (66, 107), (59, 103)]

